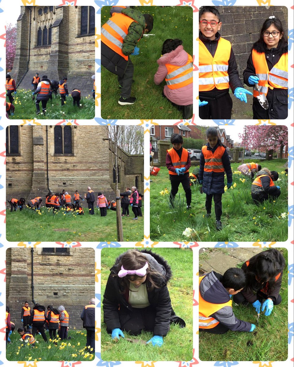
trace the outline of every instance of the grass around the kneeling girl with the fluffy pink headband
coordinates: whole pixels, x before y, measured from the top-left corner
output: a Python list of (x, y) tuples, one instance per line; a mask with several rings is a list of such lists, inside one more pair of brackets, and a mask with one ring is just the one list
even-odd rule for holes
[[(118, 255), (126, 248), (104, 248), (101, 251), (101, 299), (110, 274), (110, 268)], [(130, 343), (120, 338), (118, 343), (111, 340), (103, 323), (101, 309), (101, 358), (105, 361), (189, 361), (193, 357), (193, 252), (189, 248), (153, 248), (153, 252), (161, 255), (171, 266), (173, 276), (168, 283), (172, 307), (176, 315), (184, 319), (185, 328), (172, 324), (161, 348), (151, 344)], [(125, 338), (136, 338), (148, 341), (151, 332), (143, 331), (136, 337), (124, 333)]]

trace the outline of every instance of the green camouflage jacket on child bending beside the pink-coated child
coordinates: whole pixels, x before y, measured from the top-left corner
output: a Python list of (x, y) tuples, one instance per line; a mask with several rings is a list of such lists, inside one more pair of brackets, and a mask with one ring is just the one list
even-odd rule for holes
[(122, 14), (134, 19), (136, 22), (132, 22), (128, 29), (128, 34), (123, 39), (122, 53), (124, 55), (130, 55), (138, 43), (138, 40), (143, 36), (145, 29), (145, 18), (143, 14), (136, 9), (122, 9)]

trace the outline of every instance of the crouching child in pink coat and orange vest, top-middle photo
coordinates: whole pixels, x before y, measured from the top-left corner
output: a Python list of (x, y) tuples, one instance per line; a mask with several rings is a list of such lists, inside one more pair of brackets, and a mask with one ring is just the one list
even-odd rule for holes
[(182, 112), (183, 119), (189, 120), (193, 115), (193, 58), (182, 43), (179, 39), (164, 41), (154, 83), (158, 86), (165, 79), (162, 96)]

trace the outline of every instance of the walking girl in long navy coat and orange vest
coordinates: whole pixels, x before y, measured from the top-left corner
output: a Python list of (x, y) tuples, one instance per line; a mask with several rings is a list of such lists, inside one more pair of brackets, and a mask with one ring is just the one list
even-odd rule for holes
[(225, 172), (227, 188), (232, 186), (232, 168), (226, 151), (214, 127), (206, 130), (208, 143), (202, 146), (200, 155), (199, 183), (206, 194), (205, 217), (211, 216), (212, 197), (214, 198), (216, 229), (222, 229), (222, 194), (225, 192)]

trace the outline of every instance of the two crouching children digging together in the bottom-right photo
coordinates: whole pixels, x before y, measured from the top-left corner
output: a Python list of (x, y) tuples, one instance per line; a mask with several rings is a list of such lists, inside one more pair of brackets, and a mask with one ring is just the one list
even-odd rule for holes
[[(239, 268), (221, 275), (212, 271), (199, 277), (199, 331), (224, 334), (232, 331), (254, 331), (256, 325), (235, 317), (236, 304), (251, 304), (259, 314), (270, 316), (274, 305), (282, 302), (279, 294), (285, 259), (275, 248), (262, 251)], [(257, 321), (258, 325), (258, 321)]]

